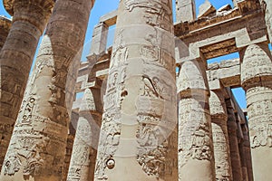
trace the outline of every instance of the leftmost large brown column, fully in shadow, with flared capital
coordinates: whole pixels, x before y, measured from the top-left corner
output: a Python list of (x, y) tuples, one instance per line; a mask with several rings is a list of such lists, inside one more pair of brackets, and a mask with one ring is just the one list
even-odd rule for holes
[(0, 167), (23, 100), (34, 52), (54, 5), (54, 0), (3, 2), (6, 11), (13, 15), (13, 23), (0, 53), (0, 124), (6, 129), (0, 142)]

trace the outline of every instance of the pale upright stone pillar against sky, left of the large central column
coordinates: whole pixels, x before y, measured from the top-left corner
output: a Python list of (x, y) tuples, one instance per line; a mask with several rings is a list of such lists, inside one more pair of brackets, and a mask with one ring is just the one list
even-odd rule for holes
[(107, 48), (109, 26), (105, 23), (97, 24), (92, 33), (92, 45), (90, 54), (101, 54)]

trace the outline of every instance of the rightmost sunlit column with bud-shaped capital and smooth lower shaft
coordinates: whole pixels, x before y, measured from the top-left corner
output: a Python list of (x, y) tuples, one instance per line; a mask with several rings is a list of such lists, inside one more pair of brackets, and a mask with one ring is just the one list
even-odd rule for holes
[(254, 180), (269, 180), (272, 177), (272, 56), (266, 43), (251, 44), (240, 56)]

